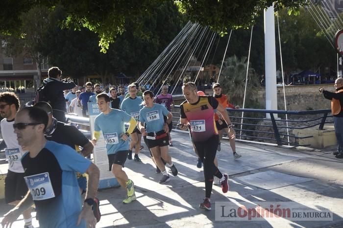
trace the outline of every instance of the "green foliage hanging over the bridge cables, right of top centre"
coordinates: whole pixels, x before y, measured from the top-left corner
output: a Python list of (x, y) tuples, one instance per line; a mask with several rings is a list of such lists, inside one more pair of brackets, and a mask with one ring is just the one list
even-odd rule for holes
[(193, 22), (224, 34), (229, 28), (247, 28), (274, 2), (275, 11), (287, 8), (290, 13), (306, 0), (176, 0), (179, 11)]

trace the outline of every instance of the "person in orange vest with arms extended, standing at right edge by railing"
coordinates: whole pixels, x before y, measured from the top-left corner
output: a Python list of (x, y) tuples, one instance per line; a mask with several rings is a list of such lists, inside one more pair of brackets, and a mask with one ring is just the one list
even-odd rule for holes
[(337, 151), (333, 152), (336, 158), (343, 158), (343, 78), (335, 81), (336, 92), (329, 92), (319, 88), (324, 97), (331, 100), (331, 112), (334, 116), (334, 126), (337, 138)]

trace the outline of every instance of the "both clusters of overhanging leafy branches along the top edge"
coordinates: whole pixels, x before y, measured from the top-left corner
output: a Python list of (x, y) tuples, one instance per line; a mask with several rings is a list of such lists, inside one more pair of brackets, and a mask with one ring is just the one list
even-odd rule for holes
[[(274, 2), (276, 9), (288, 7), (290, 11), (304, 6), (305, 0), (163, 0), (175, 2), (180, 12), (187, 15), (191, 21), (210, 26), (222, 34), (227, 28), (247, 27), (259, 12)], [(101, 51), (106, 52), (109, 43), (114, 42), (119, 34), (127, 29), (126, 20), (134, 21), (134, 29), (140, 30), (144, 25), (142, 16), (149, 15), (161, 3), (161, 0), (86, 0), (86, 1), (36, 1), (36, 0), (5, 0), (0, 11), (0, 33), (20, 35), (23, 20), (19, 15), (31, 8), (43, 5), (54, 9), (62, 5), (66, 9), (64, 26), (81, 29), (85, 27), (98, 35)], [(131, 25), (132, 26), (132, 25)]]

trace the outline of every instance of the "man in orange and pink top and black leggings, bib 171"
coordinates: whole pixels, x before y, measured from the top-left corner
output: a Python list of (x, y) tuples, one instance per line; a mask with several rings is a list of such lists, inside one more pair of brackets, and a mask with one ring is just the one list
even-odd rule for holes
[[(215, 166), (217, 146), (219, 141), (218, 130), (214, 122), (214, 109), (217, 109), (223, 116), (227, 124), (231, 124), (226, 110), (212, 96), (198, 96), (196, 84), (193, 82), (183, 83), (182, 92), (186, 98), (180, 105), (180, 129), (187, 130), (191, 127), (192, 138), (198, 155), (204, 164), (205, 177), (205, 199), (200, 204), (200, 208), (211, 209), (211, 191), (213, 186), (213, 176), (221, 179), (221, 189), (226, 193), (229, 189), (228, 175), (221, 174)], [(229, 131), (232, 136), (233, 132)]]

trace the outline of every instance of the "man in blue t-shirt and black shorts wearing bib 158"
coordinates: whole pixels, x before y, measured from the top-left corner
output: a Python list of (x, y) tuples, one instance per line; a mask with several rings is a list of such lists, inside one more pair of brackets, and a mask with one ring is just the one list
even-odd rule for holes
[[(151, 150), (156, 166), (163, 174), (159, 183), (165, 184), (170, 181), (170, 177), (161, 157), (172, 170), (172, 175), (177, 175), (177, 169), (172, 163), (172, 158), (168, 152), (169, 137), (167, 132), (169, 132), (168, 124), (172, 121), (172, 113), (164, 105), (153, 103), (154, 94), (150, 90), (146, 90), (143, 97), (146, 106), (139, 112), (137, 125), (146, 138), (147, 146)], [(164, 116), (167, 116), (167, 123), (164, 121)]]

